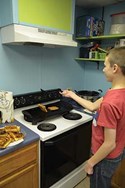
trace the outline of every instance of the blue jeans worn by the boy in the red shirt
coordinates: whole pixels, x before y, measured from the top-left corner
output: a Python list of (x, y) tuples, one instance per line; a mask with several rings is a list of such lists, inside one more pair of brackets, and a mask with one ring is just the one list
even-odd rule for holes
[(95, 165), (94, 173), (90, 175), (90, 188), (110, 188), (112, 175), (123, 157), (122, 153), (115, 159), (103, 159)]

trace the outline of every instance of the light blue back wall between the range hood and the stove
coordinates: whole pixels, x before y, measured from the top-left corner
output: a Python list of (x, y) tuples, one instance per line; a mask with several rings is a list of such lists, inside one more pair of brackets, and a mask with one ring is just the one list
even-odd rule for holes
[(83, 88), (77, 48), (7, 46), (0, 42), (0, 90), (14, 94), (40, 88)]

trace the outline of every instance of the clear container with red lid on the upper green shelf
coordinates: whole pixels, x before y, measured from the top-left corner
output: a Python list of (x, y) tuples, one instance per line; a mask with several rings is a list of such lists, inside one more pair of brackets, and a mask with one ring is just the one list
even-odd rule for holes
[(111, 15), (110, 34), (125, 33), (125, 12), (120, 12)]

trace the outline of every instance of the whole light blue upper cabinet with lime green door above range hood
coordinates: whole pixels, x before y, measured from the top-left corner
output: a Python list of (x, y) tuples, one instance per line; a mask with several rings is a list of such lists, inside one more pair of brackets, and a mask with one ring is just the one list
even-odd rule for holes
[(22, 24), (74, 32), (74, 0), (1, 0), (1, 27)]

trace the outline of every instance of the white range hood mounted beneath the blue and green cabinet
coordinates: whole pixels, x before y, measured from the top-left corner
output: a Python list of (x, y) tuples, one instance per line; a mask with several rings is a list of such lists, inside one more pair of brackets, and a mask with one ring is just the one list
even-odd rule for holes
[(45, 47), (72, 46), (72, 35), (36, 27), (11, 24), (1, 28), (2, 44), (39, 45)]

